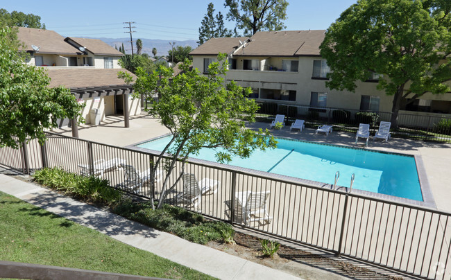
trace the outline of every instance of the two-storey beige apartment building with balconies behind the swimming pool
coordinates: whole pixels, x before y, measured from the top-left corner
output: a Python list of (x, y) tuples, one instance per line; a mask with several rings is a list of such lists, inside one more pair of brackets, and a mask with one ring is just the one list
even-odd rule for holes
[[(393, 98), (377, 90), (380, 78), (368, 75), (355, 93), (325, 86), (329, 68), (319, 46), (325, 30), (267, 31), (252, 37), (212, 38), (190, 54), (194, 67), (205, 73), (218, 53), (227, 53), (226, 80), (251, 87), (251, 98), (284, 105), (391, 112)], [(451, 94), (425, 94), (402, 108), (400, 114), (451, 117)]]

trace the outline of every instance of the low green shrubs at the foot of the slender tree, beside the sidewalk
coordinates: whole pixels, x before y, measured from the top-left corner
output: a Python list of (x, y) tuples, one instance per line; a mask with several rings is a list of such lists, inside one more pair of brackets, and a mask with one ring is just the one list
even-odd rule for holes
[(194, 213), (163, 204), (161, 209), (152, 209), (151, 202), (122, 201), (112, 207), (112, 211), (130, 220), (135, 220), (149, 227), (167, 231), (194, 243), (206, 244), (210, 240), (222, 240), (223, 231), (233, 231), (225, 222), (205, 220), (199, 213)]

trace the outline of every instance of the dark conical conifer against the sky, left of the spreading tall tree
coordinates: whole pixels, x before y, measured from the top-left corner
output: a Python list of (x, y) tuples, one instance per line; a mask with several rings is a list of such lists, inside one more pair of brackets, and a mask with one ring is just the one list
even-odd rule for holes
[(224, 26), (224, 19), (221, 12), (218, 12), (216, 18), (213, 15), (213, 3), (208, 4), (207, 13), (202, 19), (201, 27), (199, 28), (198, 44), (207, 42), (210, 38), (230, 37), (232, 33)]

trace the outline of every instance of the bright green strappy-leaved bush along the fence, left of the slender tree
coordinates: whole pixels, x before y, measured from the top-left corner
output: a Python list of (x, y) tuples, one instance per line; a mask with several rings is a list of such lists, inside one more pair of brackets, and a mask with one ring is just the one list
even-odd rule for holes
[(121, 193), (99, 177), (84, 177), (59, 167), (36, 170), (33, 177), (39, 184), (82, 200), (107, 205), (121, 200)]

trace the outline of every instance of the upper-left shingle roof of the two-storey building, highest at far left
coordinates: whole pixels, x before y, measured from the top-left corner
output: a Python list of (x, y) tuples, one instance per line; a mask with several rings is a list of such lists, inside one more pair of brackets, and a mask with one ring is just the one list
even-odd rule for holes
[(19, 27), (17, 39), (25, 44), (24, 51), (33, 51), (31, 45), (38, 46), (37, 53), (51, 53), (58, 55), (81, 55), (74, 46), (67, 44), (65, 38), (52, 30)]

